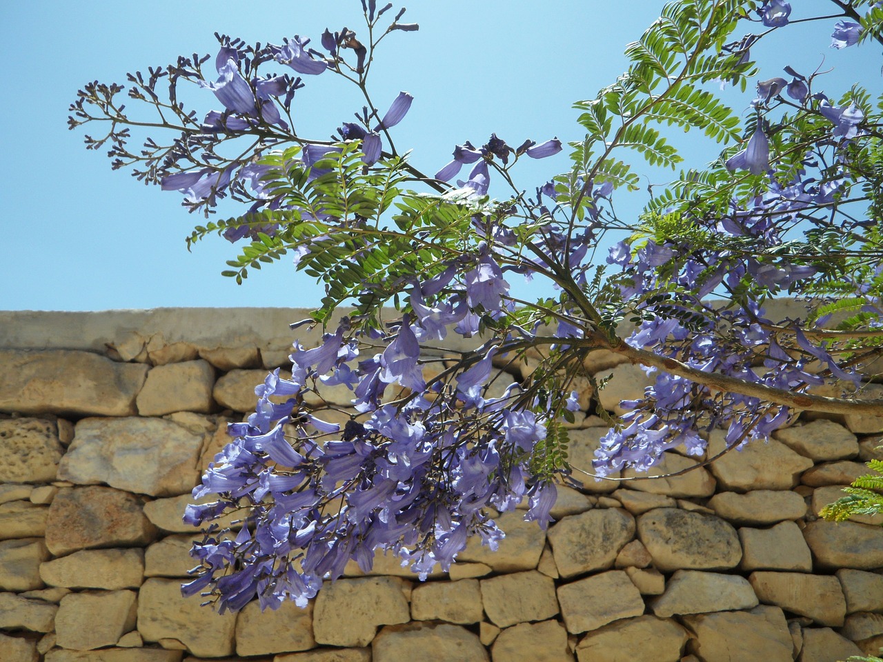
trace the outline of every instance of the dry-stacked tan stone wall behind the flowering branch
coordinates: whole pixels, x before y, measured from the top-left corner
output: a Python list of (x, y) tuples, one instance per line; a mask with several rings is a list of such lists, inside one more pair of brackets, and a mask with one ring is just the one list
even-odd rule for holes
[[(503, 514), (498, 552), (473, 540), (425, 583), (379, 556), (305, 610), (218, 616), (181, 598), (191, 488), (304, 316), (0, 313), (0, 660), (834, 662), (883, 646), (883, 528), (817, 518), (883, 457), (883, 420), (858, 416), (801, 417), (672, 478), (561, 487), (547, 532)], [(635, 366), (588, 363), (618, 373), (608, 410), (643, 389)], [(585, 384), (586, 410), (594, 397)], [(575, 466), (604, 432), (577, 417)], [(673, 451), (655, 472), (696, 463)]]

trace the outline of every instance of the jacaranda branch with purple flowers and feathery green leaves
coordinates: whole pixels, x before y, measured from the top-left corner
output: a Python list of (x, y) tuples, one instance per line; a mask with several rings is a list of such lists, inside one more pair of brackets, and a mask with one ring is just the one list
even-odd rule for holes
[[(826, 21), (834, 48), (872, 57), (879, 43), (864, 42), (881, 41), (879, 4), (833, 0), (828, 15), (799, 20)], [(585, 406), (573, 383), (592, 381), (580, 372), (592, 350), (655, 375), (623, 417), (598, 412), (610, 425), (599, 477), (646, 469), (679, 445), (702, 455), (715, 428), (729, 449), (797, 410), (883, 414), (860, 391), (883, 341), (883, 95), (879, 81), (826, 87), (818, 63), (761, 71), (758, 41), (793, 38), (789, 3), (675, 0), (627, 47), (628, 71), (576, 103), (583, 139), (492, 135), (428, 171), (393, 140), (411, 95), (379, 103), (368, 87), (375, 49), (417, 38), (397, 33), (418, 26), (392, 4), (362, 9), (358, 33), (254, 46), (218, 35), (215, 57), (180, 57), (127, 86), (90, 83), (72, 104), (71, 128), (106, 127), (86, 143), (108, 148), (114, 169), (214, 219), (189, 244), (217, 233), (240, 246), (224, 275), (242, 282), (293, 257), (325, 287), (301, 323), (321, 325), (321, 343), (294, 342), (291, 379), (268, 375), (194, 490), (216, 500), (188, 507), (186, 521), (237, 511), (245, 524), (208, 529), (185, 594), (222, 611), (253, 598), (305, 605), (348, 560), (370, 568), (377, 549), (426, 575), (449, 568), (471, 536), (494, 547), (503, 532), (487, 508), (526, 500), (526, 518), (547, 526), (556, 482), (572, 480), (564, 424)], [(364, 94), (334, 139), (296, 131), (297, 91), (315, 76)], [(181, 86), (215, 109), (185, 110)], [(756, 87), (745, 117), (721, 100), (724, 86)], [(162, 136), (131, 147), (130, 130), (145, 126)], [(678, 172), (668, 127), (703, 133), (713, 162)], [(519, 162), (562, 149), (568, 171), (517, 184)], [(612, 200), (638, 190), (639, 165), (676, 174), (623, 218)], [(211, 215), (224, 197), (242, 213)], [(547, 282), (547, 296), (516, 297), (510, 283), (523, 278)], [(765, 305), (778, 296), (799, 298), (807, 315), (771, 319)], [(472, 349), (427, 350), (452, 335)], [(488, 391), (492, 366), (526, 353), (531, 377)], [(830, 383), (858, 397), (815, 395)], [(308, 410), (305, 394), (321, 385), (350, 387), (358, 421)]]

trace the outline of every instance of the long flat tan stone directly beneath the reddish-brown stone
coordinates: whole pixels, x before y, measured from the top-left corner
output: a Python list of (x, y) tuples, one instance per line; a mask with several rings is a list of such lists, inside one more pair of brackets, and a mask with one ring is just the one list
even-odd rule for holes
[(68, 589), (137, 589), (144, 582), (144, 551), (96, 549), (48, 560), (40, 576), (49, 586)]

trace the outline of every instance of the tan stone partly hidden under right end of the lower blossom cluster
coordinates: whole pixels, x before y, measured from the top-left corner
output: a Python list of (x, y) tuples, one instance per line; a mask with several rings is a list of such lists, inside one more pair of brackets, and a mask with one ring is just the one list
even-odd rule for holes
[(497, 551), (482, 545), (479, 536), (472, 536), (463, 552), (457, 554), (457, 560), (484, 563), (496, 572), (536, 568), (546, 545), (546, 532), (536, 522), (525, 522), (525, 515), (518, 511), (503, 513), (494, 519), (506, 533)]

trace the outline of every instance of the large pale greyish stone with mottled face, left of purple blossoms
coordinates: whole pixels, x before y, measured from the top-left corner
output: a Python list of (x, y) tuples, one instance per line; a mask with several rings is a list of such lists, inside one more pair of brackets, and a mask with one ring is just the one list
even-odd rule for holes
[(58, 478), (151, 496), (189, 493), (201, 446), (201, 434), (162, 418), (84, 418)]

